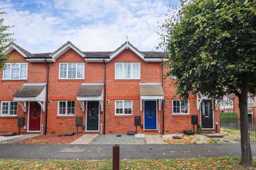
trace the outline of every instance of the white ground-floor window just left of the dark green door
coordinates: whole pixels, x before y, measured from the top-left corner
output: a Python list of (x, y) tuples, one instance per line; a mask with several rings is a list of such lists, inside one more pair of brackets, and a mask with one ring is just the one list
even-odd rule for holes
[(75, 101), (58, 101), (58, 116), (74, 116)]

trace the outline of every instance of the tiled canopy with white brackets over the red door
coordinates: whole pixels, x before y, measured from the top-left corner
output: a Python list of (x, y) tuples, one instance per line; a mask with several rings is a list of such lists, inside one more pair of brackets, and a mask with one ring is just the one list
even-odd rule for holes
[(27, 112), (27, 101), (36, 101), (45, 110), (46, 83), (24, 83), (13, 94), (13, 100), (17, 101), (24, 112)]

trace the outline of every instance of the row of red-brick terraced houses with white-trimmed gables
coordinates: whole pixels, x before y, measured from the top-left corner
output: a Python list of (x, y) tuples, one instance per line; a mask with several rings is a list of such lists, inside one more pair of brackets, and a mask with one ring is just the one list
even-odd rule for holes
[(127, 41), (114, 52), (82, 52), (68, 41), (40, 54), (12, 44), (6, 54), (0, 133), (174, 133), (191, 130), (192, 115), (219, 132), (215, 101), (175, 97), (162, 52), (140, 52)]

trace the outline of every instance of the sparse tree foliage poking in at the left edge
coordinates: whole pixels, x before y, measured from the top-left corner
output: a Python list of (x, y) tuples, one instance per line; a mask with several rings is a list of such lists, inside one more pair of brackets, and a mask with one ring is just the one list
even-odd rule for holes
[(13, 26), (4, 25), (4, 19), (1, 18), (5, 12), (0, 11), (0, 70), (4, 69), (4, 64), (6, 60), (9, 58), (9, 55), (5, 55), (4, 52), (9, 46), (11, 41), (14, 41), (12, 38), (13, 33), (8, 33), (7, 31), (12, 28)]

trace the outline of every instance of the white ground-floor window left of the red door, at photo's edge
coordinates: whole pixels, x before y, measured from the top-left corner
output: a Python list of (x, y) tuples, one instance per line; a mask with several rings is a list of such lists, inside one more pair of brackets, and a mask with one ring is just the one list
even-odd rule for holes
[(1, 116), (17, 116), (17, 108), (16, 101), (2, 101)]

